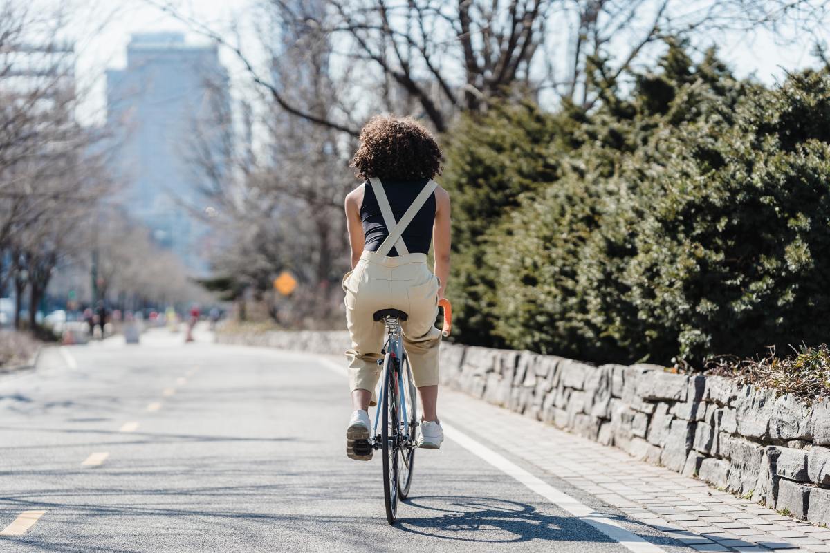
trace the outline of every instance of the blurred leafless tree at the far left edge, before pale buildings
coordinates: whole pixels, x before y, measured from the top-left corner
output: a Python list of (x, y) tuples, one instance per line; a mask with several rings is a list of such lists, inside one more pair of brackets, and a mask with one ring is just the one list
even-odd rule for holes
[(74, 51), (65, 14), (0, 1), (0, 286), (12, 281), (16, 323), (29, 291), (29, 324), (62, 260), (81, 249), (78, 228), (106, 185), (100, 138), (74, 117)]

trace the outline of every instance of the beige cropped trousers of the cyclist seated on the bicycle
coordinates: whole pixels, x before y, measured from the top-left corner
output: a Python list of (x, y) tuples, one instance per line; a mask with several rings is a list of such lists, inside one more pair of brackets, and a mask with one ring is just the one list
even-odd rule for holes
[(401, 323), (403, 347), (412, 366), (415, 386), (438, 383), (438, 346), (441, 331), (435, 327), (438, 314), (438, 279), (427, 267), (427, 255), (384, 257), (364, 251), (354, 270), (343, 277), (346, 293), (346, 323), (352, 338), (349, 357), (351, 390), (372, 392), (383, 367), (378, 366), (385, 326), (375, 322), (379, 309), (400, 309), (408, 314)]

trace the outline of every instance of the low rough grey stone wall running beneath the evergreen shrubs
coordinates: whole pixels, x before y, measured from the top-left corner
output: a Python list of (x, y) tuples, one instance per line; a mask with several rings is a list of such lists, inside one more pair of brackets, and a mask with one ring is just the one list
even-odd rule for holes
[[(223, 335), (227, 343), (344, 352), (346, 332)], [(603, 365), (444, 343), (442, 384), (794, 517), (830, 524), (830, 400), (655, 365)]]

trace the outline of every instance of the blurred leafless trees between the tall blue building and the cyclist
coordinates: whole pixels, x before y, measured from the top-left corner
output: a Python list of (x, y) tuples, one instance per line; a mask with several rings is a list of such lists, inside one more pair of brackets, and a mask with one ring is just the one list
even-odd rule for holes
[[(352, 83), (330, 70), (333, 47), (319, 27), (282, 27), (284, 8), (263, 8), (261, 44), (269, 60), (271, 82), (285, 98), (317, 119), (353, 111), (344, 95)], [(256, 89), (255, 89), (256, 90)], [(340, 276), (346, 264), (343, 248), (342, 197), (354, 178), (346, 170), (354, 147), (349, 133), (298, 118), (269, 101), (267, 91), (256, 104), (241, 104), (242, 124), (234, 125), (228, 109), (218, 121), (194, 133), (193, 162), (203, 174), (203, 192), (217, 211), (213, 225), (222, 236), (215, 269), (232, 275), (254, 297), (271, 303), (272, 280), (290, 270), (299, 281), (293, 294), (296, 318), (330, 320), (339, 301)], [(241, 129), (255, 127), (260, 141), (239, 140)], [(221, 129), (224, 138), (213, 133)], [(217, 148), (218, 145), (218, 148)]]

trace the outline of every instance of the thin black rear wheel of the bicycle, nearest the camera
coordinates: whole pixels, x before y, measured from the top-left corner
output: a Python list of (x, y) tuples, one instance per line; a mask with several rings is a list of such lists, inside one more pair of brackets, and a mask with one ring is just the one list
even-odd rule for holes
[(383, 502), (386, 520), (394, 524), (398, 518), (398, 459), (401, 440), (398, 422), (398, 361), (387, 353), (383, 361), (386, 377), (383, 394), (381, 432), (383, 439)]

